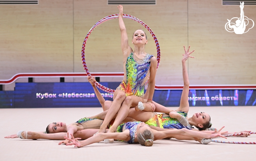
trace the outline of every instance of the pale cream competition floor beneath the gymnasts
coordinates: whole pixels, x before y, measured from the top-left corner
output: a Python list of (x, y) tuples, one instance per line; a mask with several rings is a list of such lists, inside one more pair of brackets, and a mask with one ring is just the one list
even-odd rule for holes
[[(171, 108), (177, 109), (177, 108)], [(256, 132), (256, 107), (190, 107), (188, 116), (196, 112), (211, 116), (213, 127), (229, 132)], [(7, 139), (4, 136), (20, 130), (44, 131), (49, 123), (67, 124), (85, 116), (102, 112), (101, 108), (37, 108), (0, 109), (1, 161), (113, 161), (113, 160), (246, 160), (255, 158), (256, 145), (213, 143), (203, 145), (195, 141), (157, 140), (152, 147), (115, 141), (113, 144), (95, 143), (82, 148), (58, 145), (58, 140)], [(228, 137), (218, 140), (256, 142), (256, 134), (249, 137)]]

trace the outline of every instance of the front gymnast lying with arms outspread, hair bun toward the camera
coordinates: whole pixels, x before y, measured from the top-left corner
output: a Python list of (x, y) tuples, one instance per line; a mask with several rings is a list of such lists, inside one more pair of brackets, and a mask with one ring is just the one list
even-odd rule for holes
[[(192, 131), (188, 129), (164, 129), (163, 131), (157, 131), (151, 129), (144, 122), (127, 122), (118, 126), (117, 133), (98, 133), (93, 135), (92, 137), (79, 142), (78, 140), (81, 138), (74, 138), (72, 135), (72, 139), (69, 137), (64, 137), (65, 139), (71, 141), (66, 145), (75, 145), (75, 147), (83, 147), (86, 145), (90, 145), (93, 143), (97, 143), (106, 139), (116, 139), (127, 142), (128, 144), (136, 144), (139, 143), (143, 146), (152, 146), (154, 140), (164, 139), (166, 137), (173, 137), (182, 140), (191, 140), (205, 138), (205, 144), (211, 142), (210, 138), (215, 137), (224, 137), (222, 134), (226, 132), (220, 132), (224, 127), (222, 127), (219, 131), (215, 129), (215, 131)], [(85, 131), (85, 130), (83, 130)], [(81, 131), (82, 132), (82, 131)]]

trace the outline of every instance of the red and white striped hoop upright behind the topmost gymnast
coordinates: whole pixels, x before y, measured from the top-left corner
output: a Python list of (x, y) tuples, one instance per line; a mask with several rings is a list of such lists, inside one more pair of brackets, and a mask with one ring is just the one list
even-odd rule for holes
[[(82, 63), (83, 63), (83, 66), (84, 66), (84, 70), (86, 72), (86, 74), (88, 76), (92, 76), (90, 74), (90, 72), (88, 71), (87, 69), (87, 66), (86, 66), (86, 63), (85, 63), (85, 58), (84, 58), (84, 50), (85, 50), (85, 45), (86, 45), (86, 42), (90, 36), (90, 34), (93, 32), (93, 30), (98, 27), (100, 24), (108, 21), (108, 20), (112, 20), (112, 19), (116, 19), (118, 18), (118, 15), (119, 14), (113, 14), (113, 15), (109, 15), (107, 17), (104, 17), (102, 18), (101, 20), (99, 20), (91, 29), (90, 31), (88, 32), (88, 34), (86, 35), (85, 39), (84, 39), (84, 43), (83, 43), (83, 46), (82, 46)], [(134, 21), (137, 21), (139, 22), (142, 26), (144, 26), (149, 32), (150, 34), (152, 35), (153, 39), (155, 40), (155, 43), (156, 43), (156, 46), (157, 46), (157, 68), (159, 66), (159, 63), (160, 63), (160, 47), (159, 47), (159, 43), (158, 43), (158, 40), (157, 40), (157, 37), (155, 36), (154, 32), (144, 23), (142, 22), (141, 20), (139, 20), (138, 18), (134, 17), (134, 16), (131, 16), (131, 15), (128, 15), (128, 14), (123, 14), (123, 18), (128, 18), (128, 19), (132, 19)], [(148, 81), (147, 81), (148, 82)], [(146, 82), (146, 83), (147, 83)], [(94, 84), (101, 90), (105, 91), (105, 92), (108, 92), (108, 93), (114, 93), (115, 90), (113, 89), (110, 89), (110, 88), (107, 88), (103, 85), (101, 85), (100, 83), (98, 83), (97, 81), (94, 82)]]

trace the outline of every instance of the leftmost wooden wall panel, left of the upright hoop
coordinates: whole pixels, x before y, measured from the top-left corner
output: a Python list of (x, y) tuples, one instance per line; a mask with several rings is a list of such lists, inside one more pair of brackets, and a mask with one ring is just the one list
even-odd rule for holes
[(20, 72), (73, 72), (72, 4), (0, 5), (0, 79)]

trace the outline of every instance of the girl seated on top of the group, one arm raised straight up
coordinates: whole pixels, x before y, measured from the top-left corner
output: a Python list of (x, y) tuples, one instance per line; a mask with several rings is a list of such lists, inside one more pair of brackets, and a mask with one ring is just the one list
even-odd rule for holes
[[(147, 44), (146, 33), (138, 29), (133, 34), (132, 44), (134, 44), (134, 51), (128, 44), (128, 36), (126, 28), (122, 19), (123, 6), (119, 5), (119, 27), (121, 31), (121, 49), (123, 53), (123, 69), (124, 79), (114, 92), (113, 102), (106, 114), (106, 117), (100, 126), (97, 133), (105, 133), (107, 125), (117, 114), (115, 122), (108, 132), (115, 132), (121, 119), (128, 115), (127, 108), (137, 106), (139, 101), (143, 101), (144, 87), (147, 77), (150, 74), (148, 86), (147, 103), (152, 103), (152, 98), (155, 90), (155, 76), (157, 70), (157, 59), (153, 55), (145, 52), (145, 45)], [(133, 100), (133, 101), (131, 101)], [(151, 108), (145, 111), (151, 111)]]

